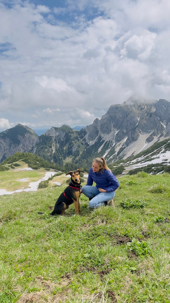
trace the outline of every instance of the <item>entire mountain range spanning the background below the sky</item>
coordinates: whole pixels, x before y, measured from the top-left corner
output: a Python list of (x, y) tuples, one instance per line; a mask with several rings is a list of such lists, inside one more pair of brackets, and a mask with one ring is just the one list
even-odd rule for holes
[(170, 137), (170, 103), (164, 99), (130, 97), (111, 105), (107, 113), (80, 131), (68, 125), (52, 127), (39, 137), (21, 124), (0, 133), (0, 159), (16, 151), (29, 151), (72, 169), (91, 165), (104, 156), (108, 164), (138, 155)]

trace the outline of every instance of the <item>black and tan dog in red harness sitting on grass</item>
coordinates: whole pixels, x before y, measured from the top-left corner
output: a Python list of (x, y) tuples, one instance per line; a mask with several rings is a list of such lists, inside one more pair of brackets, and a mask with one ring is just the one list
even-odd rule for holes
[(50, 215), (63, 215), (64, 211), (69, 208), (69, 205), (72, 203), (74, 203), (76, 215), (79, 215), (79, 197), (81, 194), (82, 187), (80, 181), (80, 172), (80, 169), (76, 169), (75, 171), (69, 171), (66, 174), (71, 175), (71, 182), (69, 183), (69, 186), (66, 187), (66, 189), (59, 196), (54, 206), (54, 210), (50, 213)]

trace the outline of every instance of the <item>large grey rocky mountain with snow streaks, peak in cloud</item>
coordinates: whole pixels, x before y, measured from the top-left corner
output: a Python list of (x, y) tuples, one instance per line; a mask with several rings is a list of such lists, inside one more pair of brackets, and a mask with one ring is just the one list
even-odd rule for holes
[(170, 103), (164, 99), (145, 102), (131, 97), (123, 104), (111, 105), (101, 120), (96, 118), (92, 125), (81, 130), (89, 145), (78, 159), (81, 165), (98, 156), (113, 163), (168, 138)]

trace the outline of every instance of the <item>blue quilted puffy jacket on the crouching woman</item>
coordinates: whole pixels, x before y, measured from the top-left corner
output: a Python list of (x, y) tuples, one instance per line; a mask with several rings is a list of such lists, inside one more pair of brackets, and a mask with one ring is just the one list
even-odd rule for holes
[(115, 191), (119, 187), (119, 182), (116, 177), (108, 169), (104, 169), (103, 174), (100, 171), (93, 172), (92, 167), (88, 172), (88, 179), (86, 185), (93, 185), (96, 183), (97, 188), (106, 189), (107, 192)]

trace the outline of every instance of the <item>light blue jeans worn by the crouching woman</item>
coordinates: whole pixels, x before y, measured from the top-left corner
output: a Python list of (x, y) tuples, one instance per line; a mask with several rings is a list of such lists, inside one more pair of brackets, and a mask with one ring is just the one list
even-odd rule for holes
[(86, 197), (92, 198), (88, 204), (91, 208), (97, 208), (104, 205), (104, 201), (111, 200), (115, 196), (115, 191), (100, 192), (97, 187), (89, 185), (82, 187), (82, 193)]

